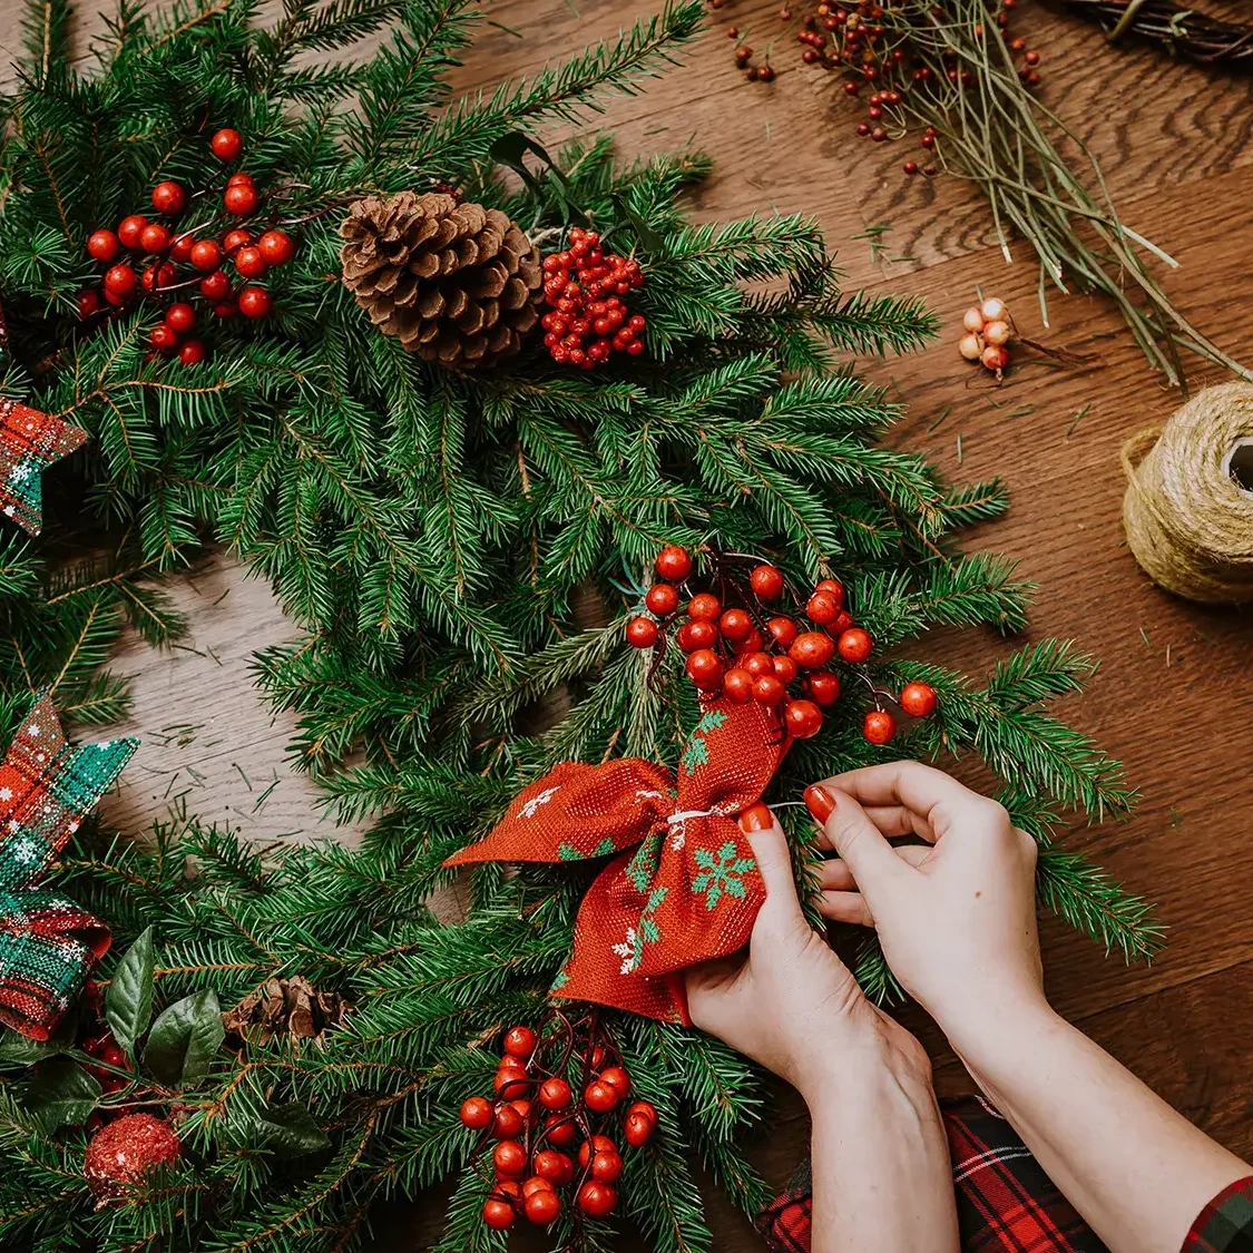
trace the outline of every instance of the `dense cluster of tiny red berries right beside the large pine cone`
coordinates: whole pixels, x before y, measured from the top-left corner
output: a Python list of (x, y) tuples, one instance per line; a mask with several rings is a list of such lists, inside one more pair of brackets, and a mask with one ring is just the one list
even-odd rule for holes
[(634, 257), (605, 256), (595, 231), (571, 227), (569, 247), (544, 258), (544, 343), (559, 365), (594, 370), (611, 352), (638, 357), (645, 322), (628, 315), (623, 297), (644, 286)]

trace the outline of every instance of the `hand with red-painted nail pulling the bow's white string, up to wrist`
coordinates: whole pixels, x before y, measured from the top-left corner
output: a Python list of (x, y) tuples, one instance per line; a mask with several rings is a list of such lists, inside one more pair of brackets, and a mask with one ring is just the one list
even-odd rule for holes
[[(806, 789), (824, 841), (822, 913), (878, 931), (901, 985), (950, 1035), (980, 1015), (1044, 1001), (1035, 841), (1004, 807), (918, 762)], [(925, 846), (893, 847), (896, 836)]]

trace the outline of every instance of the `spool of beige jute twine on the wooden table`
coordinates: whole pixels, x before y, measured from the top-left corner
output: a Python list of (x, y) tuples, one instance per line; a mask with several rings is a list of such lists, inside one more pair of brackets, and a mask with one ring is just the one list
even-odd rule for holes
[(1198, 392), (1121, 455), (1123, 525), (1144, 573), (1189, 600), (1253, 600), (1253, 385)]

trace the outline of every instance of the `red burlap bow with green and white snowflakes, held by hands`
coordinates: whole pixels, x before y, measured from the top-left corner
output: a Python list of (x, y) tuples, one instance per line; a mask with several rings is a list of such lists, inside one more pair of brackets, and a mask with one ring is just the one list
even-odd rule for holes
[(563, 762), (445, 865), (620, 853), (583, 898), (553, 992), (688, 1022), (679, 972), (743, 947), (766, 897), (736, 816), (761, 799), (788, 746), (773, 710), (713, 702), (677, 786), (665, 767), (639, 758)]

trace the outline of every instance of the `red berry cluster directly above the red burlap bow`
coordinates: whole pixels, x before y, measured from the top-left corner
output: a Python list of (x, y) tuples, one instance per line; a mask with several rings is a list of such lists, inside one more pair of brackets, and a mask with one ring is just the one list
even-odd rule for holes
[[(628, 642), (635, 648), (664, 642), (665, 629), (678, 620), (687, 598), (687, 620), (674, 639), (687, 654), (688, 678), (702, 695), (768, 705), (791, 736), (808, 739), (822, 729), (822, 710), (840, 699), (843, 683), (852, 678), (875, 702), (862, 720), (862, 734), (872, 744), (888, 743), (896, 734), (896, 719), (883, 704), (892, 698), (876, 688), (863, 669), (875, 642), (857, 625), (843, 583), (822, 579), (803, 604), (793, 598), (791, 611), (779, 613), (791, 589), (778, 566), (730, 554), (715, 560), (719, 594), (693, 594), (687, 586), (692, 555), (677, 544), (662, 549), (654, 566), (662, 581), (644, 595), (650, 616), (626, 624)], [(752, 566), (747, 580), (742, 564)], [(910, 683), (896, 703), (911, 717), (925, 718), (936, 707), (936, 692), (928, 683)]]

